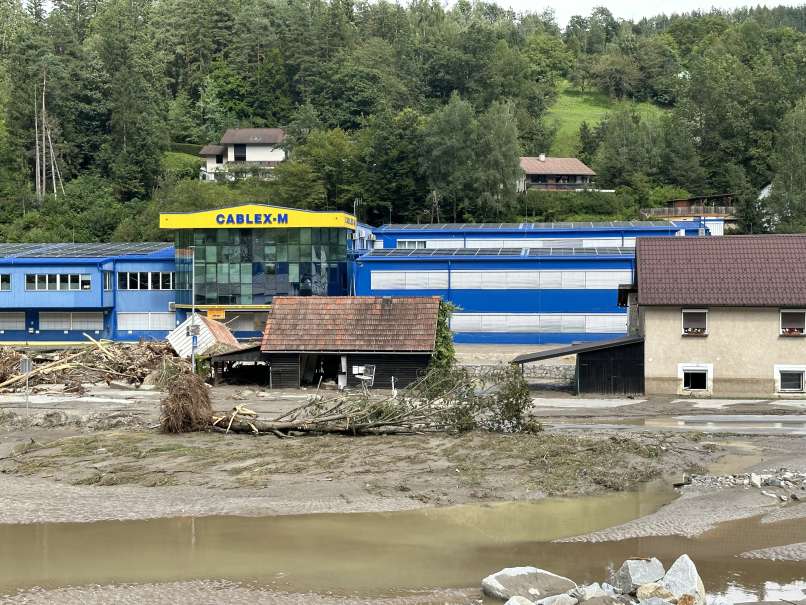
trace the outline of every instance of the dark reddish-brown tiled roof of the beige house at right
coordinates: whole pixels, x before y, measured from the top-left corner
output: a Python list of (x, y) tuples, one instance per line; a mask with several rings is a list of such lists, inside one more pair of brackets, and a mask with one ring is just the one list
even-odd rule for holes
[(806, 235), (640, 237), (639, 305), (806, 307)]

